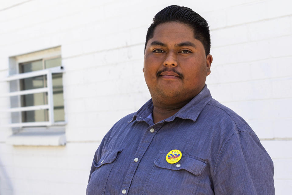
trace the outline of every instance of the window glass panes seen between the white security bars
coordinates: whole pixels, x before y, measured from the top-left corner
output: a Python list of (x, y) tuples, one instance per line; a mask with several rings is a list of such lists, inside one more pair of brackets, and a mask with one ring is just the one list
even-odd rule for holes
[[(43, 64), (44, 63), (44, 64)], [(42, 70), (44, 68), (52, 68), (61, 66), (61, 58), (37, 60), (33, 62), (25, 62), (19, 64), (20, 73), (28, 73), (32, 71)], [(54, 120), (64, 121), (64, 98), (62, 73), (52, 75), (53, 83), (53, 100), (54, 100)], [(47, 76), (35, 76), (20, 80), (20, 90), (30, 90), (36, 88), (47, 87)], [(21, 95), (21, 106), (47, 105), (47, 93), (26, 94)], [(48, 109), (25, 111), (22, 112), (22, 122), (41, 122), (48, 121)]]

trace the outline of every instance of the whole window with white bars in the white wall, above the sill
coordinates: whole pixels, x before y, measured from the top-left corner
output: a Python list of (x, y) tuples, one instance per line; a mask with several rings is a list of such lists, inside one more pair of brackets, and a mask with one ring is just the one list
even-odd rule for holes
[(9, 58), (11, 127), (64, 125), (61, 47)]

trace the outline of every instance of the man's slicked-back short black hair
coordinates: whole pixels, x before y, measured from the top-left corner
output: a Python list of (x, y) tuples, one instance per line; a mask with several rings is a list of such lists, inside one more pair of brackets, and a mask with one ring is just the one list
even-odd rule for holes
[(179, 5), (170, 5), (154, 16), (153, 22), (146, 34), (144, 52), (148, 40), (153, 37), (155, 27), (157, 27), (158, 24), (166, 22), (181, 22), (191, 27), (194, 31), (194, 38), (203, 44), (206, 56), (210, 54), (211, 41), (207, 21), (192, 9)]

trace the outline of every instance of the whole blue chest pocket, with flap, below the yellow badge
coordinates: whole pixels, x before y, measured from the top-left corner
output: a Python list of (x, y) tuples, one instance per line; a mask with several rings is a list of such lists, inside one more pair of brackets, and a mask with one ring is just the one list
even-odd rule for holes
[(177, 163), (170, 164), (166, 161), (167, 154), (166, 151), (157, 154), (143, 194), (195, 194), (207, 161), (182, 154)]

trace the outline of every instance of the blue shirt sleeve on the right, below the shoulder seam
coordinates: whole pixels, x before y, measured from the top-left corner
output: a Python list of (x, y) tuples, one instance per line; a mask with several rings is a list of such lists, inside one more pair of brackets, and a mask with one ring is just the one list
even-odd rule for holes
[(273, 161), (258, 137), (234, 133), (225, 141), (214, 168), (215, 195), (273, 195)]

